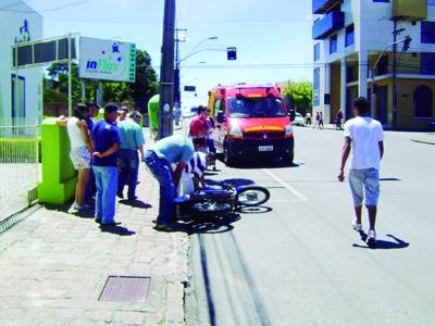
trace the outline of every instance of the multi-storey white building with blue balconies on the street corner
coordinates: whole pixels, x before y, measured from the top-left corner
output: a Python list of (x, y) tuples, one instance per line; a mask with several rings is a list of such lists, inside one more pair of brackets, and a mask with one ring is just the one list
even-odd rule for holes
[(350, 118), (351, 101), (364, 96), (386, 128), (435, 121), (435, 0), (312, 0), (312, 9), (314, 112)]

